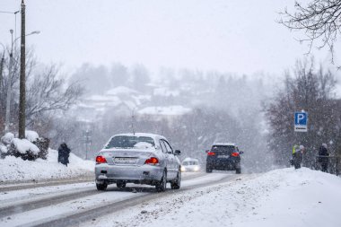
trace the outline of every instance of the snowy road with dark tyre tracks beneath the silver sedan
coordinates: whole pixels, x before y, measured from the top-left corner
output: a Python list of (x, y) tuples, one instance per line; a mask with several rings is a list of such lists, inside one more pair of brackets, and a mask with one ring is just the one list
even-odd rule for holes
[(125, 189), (109, 186), (106, 192), (95, 189), (93, 182), (63, 184), (0, 193), (1, 226), (67, 226), (83, 223), (193, 188), (207, 187), (236, 179), (232, 173), (185, 174), (179, 190), (155, 193), (149, 186), (128, 184)]

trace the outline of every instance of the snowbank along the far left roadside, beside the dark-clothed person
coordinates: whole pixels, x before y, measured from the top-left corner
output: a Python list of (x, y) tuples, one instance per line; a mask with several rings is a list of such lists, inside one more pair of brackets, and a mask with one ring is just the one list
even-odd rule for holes
[(48, 159), (37, 159), (35, 162), (23, 161), (21, 158), (6, 156), (0, 159), (0, 182), (66, 179), (86, 175), (94, 170), (95, 163), (70, 153), (70, 163), (67, 167), (57, 162), (56, 150), (48, 150)]

